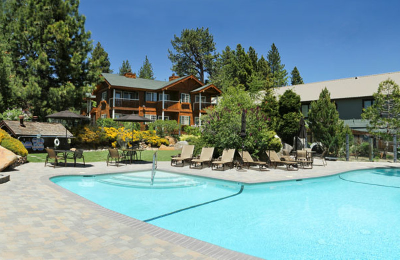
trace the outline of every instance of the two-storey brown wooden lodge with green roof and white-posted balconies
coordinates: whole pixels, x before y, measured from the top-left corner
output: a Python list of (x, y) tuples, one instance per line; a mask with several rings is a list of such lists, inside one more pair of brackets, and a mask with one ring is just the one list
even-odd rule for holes
[(221, 94), (216, 86), (205, 85), (193, 75), (172, 75), (168, 82), (136, 78), (135, 73), (102, 76), (104, 81), (92, 93), (97, 102), (97, 107), (89, 109), (93, 121), (135, 113), (152, 120), (201, 125), (204, 109), (216, 105)]

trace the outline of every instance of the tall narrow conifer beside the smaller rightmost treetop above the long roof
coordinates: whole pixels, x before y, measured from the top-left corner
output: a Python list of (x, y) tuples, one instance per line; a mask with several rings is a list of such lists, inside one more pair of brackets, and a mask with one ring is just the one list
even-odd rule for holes
[(286, 86), (287, 71), (284, 69), (284, 64), (281, 64), (280, 54), (275, 43), (272, 43), (271, 50), (268, 51), (267, 59), (272, 73), (273, 86)]

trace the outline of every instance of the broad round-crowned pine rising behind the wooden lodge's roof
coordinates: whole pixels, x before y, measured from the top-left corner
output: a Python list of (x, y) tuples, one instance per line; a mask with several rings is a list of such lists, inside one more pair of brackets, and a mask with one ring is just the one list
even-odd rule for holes
[(168, 49), (172, 71), (180, 76), (193, 74), (204, 82), (205, 73), (212, 77), (218, 54), (208, 28), (184, 29), (180, 37), (171, 40), (174, 52)]

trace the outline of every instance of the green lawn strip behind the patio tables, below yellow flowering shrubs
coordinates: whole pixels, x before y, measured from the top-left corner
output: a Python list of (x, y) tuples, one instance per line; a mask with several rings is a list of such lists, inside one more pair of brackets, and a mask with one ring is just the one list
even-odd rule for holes
[[(153, 154), (155, 151), (142, 151), (141, 159), (144, 161), (152, 161)], [(170, 161), (172, 155), (177, 155), (180, 150), (177, 151), (158, 151), (157, 159), (158, 161)], [(85, 162), (97, 162), (106, 161), (108, 151), (86, 151), (83, 152)], [(140, 153), (138, 154), (140, 158)], [(46, 160), (47, 153), (32, 153), (28, 154), (29, 162), (44, 162)]]

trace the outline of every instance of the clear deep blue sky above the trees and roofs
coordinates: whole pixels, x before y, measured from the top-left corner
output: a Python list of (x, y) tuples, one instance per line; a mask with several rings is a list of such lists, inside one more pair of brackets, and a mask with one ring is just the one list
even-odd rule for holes
[(398, 0), (81, 0), (86, 30), (138, 72), (148, 56), (157, 80), (172, 74), (171, 39), (209, 28), (217, 51), (241, 44), (266, 57), (272, 43), (305, 83), (400, 71)]

